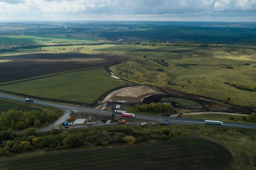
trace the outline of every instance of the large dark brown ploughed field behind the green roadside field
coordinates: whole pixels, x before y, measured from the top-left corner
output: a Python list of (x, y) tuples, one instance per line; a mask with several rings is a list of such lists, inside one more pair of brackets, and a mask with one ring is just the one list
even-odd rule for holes
[(70, 53), (38, 53), (1, 57), (0, 83), (76, 69), (117, 65), (134, 56)]

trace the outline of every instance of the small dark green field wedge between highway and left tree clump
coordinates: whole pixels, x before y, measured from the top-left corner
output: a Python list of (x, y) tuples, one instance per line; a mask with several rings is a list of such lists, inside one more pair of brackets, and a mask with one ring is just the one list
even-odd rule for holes
[(30, 107), (27, 105), (20, 105), (17, 103), (0, 100), (0, 113), (2, 113), (3, 111), (6, 112), (11, 109), (22, 111), (36, 110), (34, 107)]

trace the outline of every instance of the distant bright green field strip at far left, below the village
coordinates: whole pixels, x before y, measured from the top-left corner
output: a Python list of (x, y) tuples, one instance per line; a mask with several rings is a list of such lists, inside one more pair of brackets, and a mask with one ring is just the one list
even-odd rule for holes
[(98, 39), (87, 39), (80, 37), (68, 36), (49, 36), (49, 35), (10, 35), (0, 36), (1, 44), (35, 44), (35, 43), (53, 43), (53, 42), (69, 42), (69, 43), (84, 43), (84, 42), (99, 42)]

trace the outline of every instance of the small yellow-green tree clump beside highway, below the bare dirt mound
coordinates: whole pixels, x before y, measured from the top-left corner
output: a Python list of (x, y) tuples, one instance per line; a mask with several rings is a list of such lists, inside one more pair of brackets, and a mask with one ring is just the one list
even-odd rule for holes
[(162, 103), (150, 103), (149, 105), (134, 105), (134, 110), (136, 112), (147, 112), (147, 113), (171, 113), (173, 111), (173, 107), (169, 104)]

